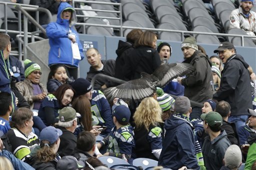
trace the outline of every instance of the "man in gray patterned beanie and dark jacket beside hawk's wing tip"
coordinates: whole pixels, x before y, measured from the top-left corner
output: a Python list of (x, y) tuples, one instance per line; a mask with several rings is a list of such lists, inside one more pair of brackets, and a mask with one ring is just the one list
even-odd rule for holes
[[(184, 55), (183, 63), (194, 66), (195, 71), (186, 75), (185, 78), (177, 77), (177, 81), (185, 87), (184, 96), (189, 100), (202, 103), (212, 98), (212, 73), (211, 61), (198, 50), (195, 38), (189, 36), (181, 43), (181, 50)], [(190, 120), (200, 119), (201, 108), (192, 106)]]

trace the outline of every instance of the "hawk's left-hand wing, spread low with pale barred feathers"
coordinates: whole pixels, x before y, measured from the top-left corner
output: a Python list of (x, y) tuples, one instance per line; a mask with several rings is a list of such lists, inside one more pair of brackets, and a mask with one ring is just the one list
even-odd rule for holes
[(107, 88), (104, 90), (104, 95), (108, 101), (120, 98), (124, 102), (130, 102), (131, 99), (137, 102), (145, 97), (152, 96), (154, 89), (155, 86), (151, 82), (148, 82), (145, 78), (139, 78), (127, 81), (116, 87)]

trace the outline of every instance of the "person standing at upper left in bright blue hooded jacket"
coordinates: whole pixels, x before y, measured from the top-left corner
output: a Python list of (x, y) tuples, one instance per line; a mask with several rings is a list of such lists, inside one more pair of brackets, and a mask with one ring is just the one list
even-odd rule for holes
[[(78, 62), (84, 58), (82, 45), (74, 29), (76, 21), (74, 8), (67, 2), (61, 2), (58, 7), (57, 21), (50, 22), (46, 27), (50, 45), (49, 67), (54, 64), (64, 64), (69, 76), (74, 79), (77, 78)], [(71, 48), (71, 46), (75, 45), (78, 45), (80, 58), (73, 57), (72, 49), (74, 48)]]

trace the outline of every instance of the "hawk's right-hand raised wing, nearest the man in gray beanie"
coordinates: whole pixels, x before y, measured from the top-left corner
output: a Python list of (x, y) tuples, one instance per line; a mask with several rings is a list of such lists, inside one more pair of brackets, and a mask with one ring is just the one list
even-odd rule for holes
[(157, 67), (152, 75), (158, 78), (159, 82), (156, 85), (157, 87), (164, 87), (170, 80), (183, 76), (187, 73), (194, 71), (194, 67), (187, 63), (171, 63), (171, 64), (162, 64)]

